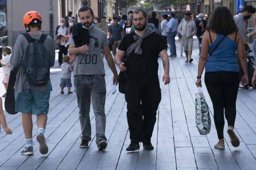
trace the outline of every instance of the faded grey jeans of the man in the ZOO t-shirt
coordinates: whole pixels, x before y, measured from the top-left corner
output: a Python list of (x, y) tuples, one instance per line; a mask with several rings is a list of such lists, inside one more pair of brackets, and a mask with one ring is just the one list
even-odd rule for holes
[(81, 125), (81, 139), (91, 141), (90, 104), (95, 115), (96, 143), (105, 140), (105, 99), (106, 82), (104, 75), (77, 75), (74, 77), (77, 102), (79, 107), (79, 120)]

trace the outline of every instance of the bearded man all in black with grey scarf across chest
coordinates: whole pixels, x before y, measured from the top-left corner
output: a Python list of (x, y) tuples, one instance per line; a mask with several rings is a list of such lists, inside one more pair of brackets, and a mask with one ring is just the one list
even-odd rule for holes
[(151, 137), (156, 121), (161, 89), (158, 79), (158, 55), (163, 60), (164, 84), (170, 83), (169, 59), (164, 39), (148, 29), (147, 14), (142, 9), (133, 13), (135, 31), (122, 39), (115, 62), (121, 71), (126, 71), (125, 100), (131, 144), (127, 151), (152, 150)]

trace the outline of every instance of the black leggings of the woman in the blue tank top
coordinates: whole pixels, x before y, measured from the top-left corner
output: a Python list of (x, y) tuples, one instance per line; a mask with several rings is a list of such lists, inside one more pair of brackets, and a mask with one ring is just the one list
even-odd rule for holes
[(236, 120), (236, 97), (239, 88), (239, 74), (234, 71), (206, 72), (204, 81), (211, 97), (214, 123), (218, 138), (223, 139), (224, 109), (228, 126), (234, 127)]

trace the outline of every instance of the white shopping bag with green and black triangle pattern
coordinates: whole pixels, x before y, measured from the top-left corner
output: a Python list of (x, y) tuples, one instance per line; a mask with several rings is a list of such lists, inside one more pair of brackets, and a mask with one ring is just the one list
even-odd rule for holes
[(201, 135), (210, 133), (211, 117), (209, 107), (205, 101), (201, 87), (198, 87), (196, 95), (196, 127)]

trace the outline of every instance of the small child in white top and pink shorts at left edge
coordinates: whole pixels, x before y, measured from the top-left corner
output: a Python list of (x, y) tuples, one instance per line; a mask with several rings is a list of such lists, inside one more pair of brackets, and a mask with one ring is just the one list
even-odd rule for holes
[[(11, 72), (10, 54), (12, 54), (12, 47), (9, 47), (9, 46), (4, 47), (3, 48), (4, 59), (0, 60), (0, 63), (3, 66), (3, 74), (4, 74), (3, 84), (4, 84), (4, 87), (5, 87), (6, 91), (7, 91), (10, 72)], [(5, 97), (5, 96), (6, 96), (6, 93), (4, 93), (4, 95), (2, 97)]]

